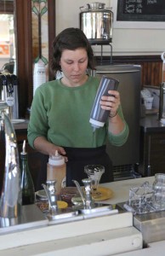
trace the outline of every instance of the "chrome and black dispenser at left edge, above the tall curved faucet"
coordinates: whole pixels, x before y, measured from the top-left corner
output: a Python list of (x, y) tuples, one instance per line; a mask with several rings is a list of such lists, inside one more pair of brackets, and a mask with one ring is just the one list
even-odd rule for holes
[(19, 119), (18, 79), (13, 73), (0, 72), (0, 101), (8, 104), (10, 119)]

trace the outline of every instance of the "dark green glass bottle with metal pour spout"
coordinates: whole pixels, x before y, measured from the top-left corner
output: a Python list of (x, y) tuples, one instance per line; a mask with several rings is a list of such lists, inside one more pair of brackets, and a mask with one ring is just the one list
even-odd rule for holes
[(21, 170), (21, 189), (22, 205), (31, 205), (35, 202), (34, 183), (31, 178), (31, 172), (28, 166), (26, 140), (23, 143), (22, 152), (20, 152), (20, 170)]

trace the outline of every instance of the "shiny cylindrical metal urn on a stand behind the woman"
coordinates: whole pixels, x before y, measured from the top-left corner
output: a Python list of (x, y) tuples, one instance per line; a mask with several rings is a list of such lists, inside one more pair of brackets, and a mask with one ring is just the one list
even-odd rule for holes
[(88, 3), (80, 7), (80, 28), (91, 43), (108, 44), (112, 40), (113, 13), (105, 3)]

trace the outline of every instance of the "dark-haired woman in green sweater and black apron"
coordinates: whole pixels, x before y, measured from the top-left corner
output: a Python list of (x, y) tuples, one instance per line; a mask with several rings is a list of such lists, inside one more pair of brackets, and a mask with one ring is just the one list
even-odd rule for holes
[(88, 39), (78, 28), (66, 28), (54, 39), (52, 70), (61, 79), (42, 84), (36, 90), (31, 105), (28, 141), (32, 148), (44, 155), (38, 189), (46, 181), (48, 155), (65, 156), (66, 185), (72, 179), (82, 182), (87, 174), (84, 166), (100, 164), (105, 173), (100, 183), (113, 181), (112, 163), (105, 153), (106, 137), (111, 144), (122, 146), (128, 138), (118, 91), (109, 90), (102, 96), (101, 108), (110, 111), (104, 127), (89, 124), (89, 116), (100, 79), (88, 76), (87, 68), (94, 69), (94, 54)]

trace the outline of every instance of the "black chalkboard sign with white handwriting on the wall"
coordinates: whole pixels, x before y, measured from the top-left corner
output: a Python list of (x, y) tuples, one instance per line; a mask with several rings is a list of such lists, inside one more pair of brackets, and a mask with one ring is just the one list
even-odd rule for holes
[(165, 21), (165, 0), (118, 0), (117, 20)]

